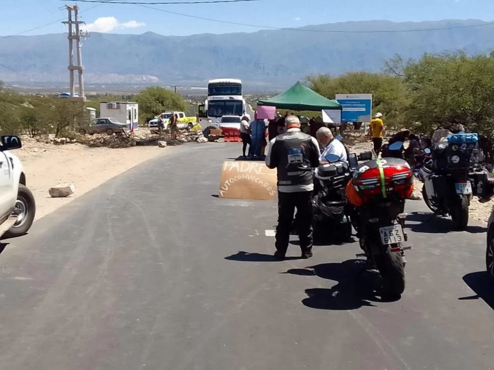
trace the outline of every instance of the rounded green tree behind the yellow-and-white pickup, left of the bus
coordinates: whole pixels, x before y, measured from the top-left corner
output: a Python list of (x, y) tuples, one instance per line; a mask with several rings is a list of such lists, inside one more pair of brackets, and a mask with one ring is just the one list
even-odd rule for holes
[(143, 122), (146, 117), (154, 117), (166, 110), (185, 111), (187, 108), (187, 104), (180, 95), (159, 86), (144, 89), (135, 96), (135, 100), (139, 103)]

